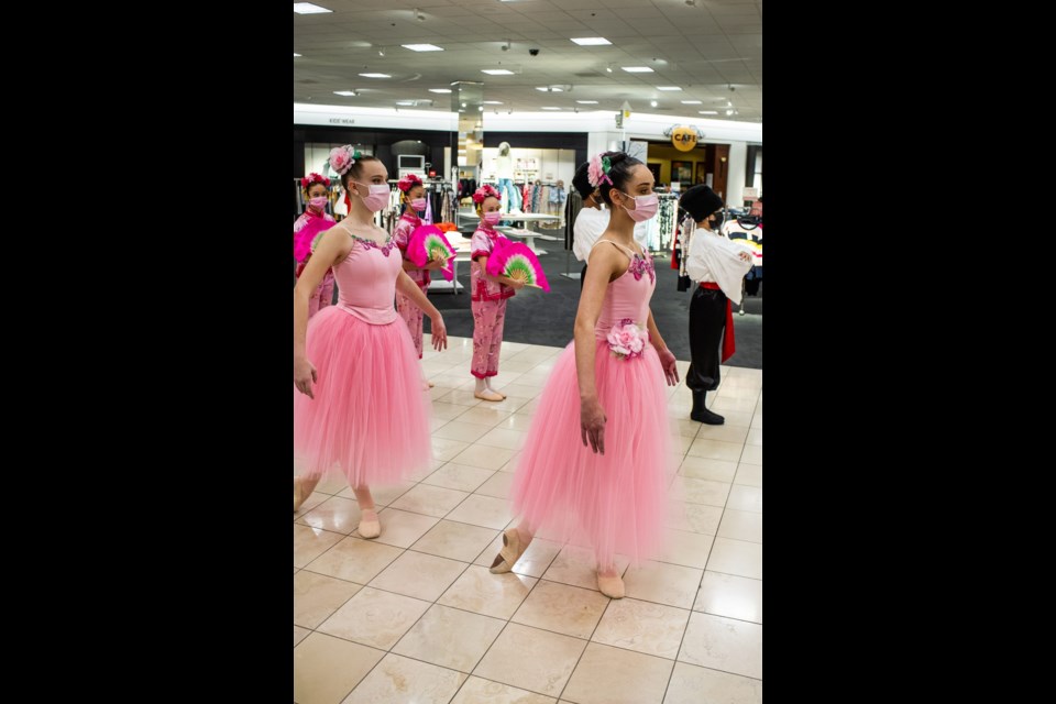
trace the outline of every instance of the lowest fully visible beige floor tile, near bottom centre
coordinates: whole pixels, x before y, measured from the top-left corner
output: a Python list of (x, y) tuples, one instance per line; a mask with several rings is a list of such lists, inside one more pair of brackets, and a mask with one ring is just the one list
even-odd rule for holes
[(508, 624), (473, 674), (558, 696), (586, 648), (586, 641), (519, 624)]

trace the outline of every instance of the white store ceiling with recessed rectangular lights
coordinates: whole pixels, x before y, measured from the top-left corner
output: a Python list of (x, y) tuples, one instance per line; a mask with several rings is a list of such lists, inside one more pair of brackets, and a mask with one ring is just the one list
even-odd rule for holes
[[(686, 4), (695, 2), (694, 6)], [(316, 0), (333, 10), (294, 14), (294, 102), (394, 108), (432, 100), (451, 111), (451, 96), (429, 88), (484, 84), (487, 110), (618, 110), (762, 122), (761, 0)], [(416, 10), (425, 18), (416, 20)], [(604, 36), (608, 46), (572, 37)], [(509, 51), (502, 47), (510, 42)], [(402, 44), (435, 44), (419, 53)], [(540, 50), (531, 56), (529, 48)], [(378, 52), (384, 52), (380, 56)], [(606, 72), (612, 66), (613, 72)], [(649, 66), (628, 74), (622, 66)], [(507, 68), (490, 76), (482, 68)], [(363, 78), (383, 73), (392, 78)], [(562, 86), (541, 92), (538, 86)], [(571, 86), (571, 90), (568, 87)], [(679, 86), (661, 91), (657, 86)], [(733, 87), (733, 90), (730, 90)], [(342, 97), (336, 90), (355, 90)], [(597, 100), (579, 105), (576, 100)], [(657, 100), (652, 108), (650, 100)], [(701, 100), (700, 106), (681, 100)], [(727, 101), (737, 114), (726, 117)]]

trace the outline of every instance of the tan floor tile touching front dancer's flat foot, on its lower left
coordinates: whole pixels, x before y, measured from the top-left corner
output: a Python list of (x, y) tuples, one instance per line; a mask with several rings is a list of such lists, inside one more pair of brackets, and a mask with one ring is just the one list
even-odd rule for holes
[(590, 591), (557, 582), (540, 581), (531, 590), (510, 620), (565, 636), (587, 639), (609, 598), (598, 591)]

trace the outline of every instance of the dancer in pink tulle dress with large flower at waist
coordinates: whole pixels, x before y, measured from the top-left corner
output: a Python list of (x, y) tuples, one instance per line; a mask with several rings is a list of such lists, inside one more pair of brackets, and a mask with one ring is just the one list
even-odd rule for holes
[(510, 491), (521, 517), (503, 534), (491, 571), (508, 572), (532, 536), (585, 541), (597, 587), (624, 596), (616, 554), (656, 554), (670, 466), (664, 378), (679, 383), (649, 310), (656, 274), (635, 223), (657, 213), (652, 174), (622, 152), (591, 160), (591, 185), (612, 211), (588, 254), (573, 341), (540, 397)]

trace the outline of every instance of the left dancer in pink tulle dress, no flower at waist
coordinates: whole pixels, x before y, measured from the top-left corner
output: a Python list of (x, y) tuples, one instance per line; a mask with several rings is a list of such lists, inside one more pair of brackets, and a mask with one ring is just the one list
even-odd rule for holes
[[(370, 484), (393, 484), (428, 466), (429, 396), (393, 298), (397, 290), (429, 316), (432, 345), (447, 346), (440, 311), (403, 271), (396, 243), (374, 224), (388, 204), (388, 173), (350, 145), (330, 152), (330, 167), (351, 194), (349, 216), (316, 242), (294, 288), (294, 510), (324, 475), (340, 472), (360, 506), (360, 536), (381, 524)], [(309, 324), (308, 300), (333, 267), (336, 306)]]

